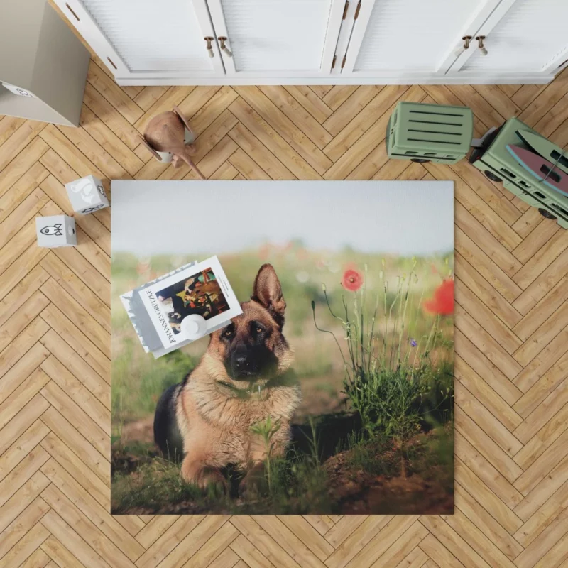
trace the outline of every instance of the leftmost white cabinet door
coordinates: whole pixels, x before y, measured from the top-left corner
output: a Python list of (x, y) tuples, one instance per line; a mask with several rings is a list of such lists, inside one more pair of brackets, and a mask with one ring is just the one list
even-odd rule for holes
[(55, 2), (116, 77), (224, 75), (205, 0)]

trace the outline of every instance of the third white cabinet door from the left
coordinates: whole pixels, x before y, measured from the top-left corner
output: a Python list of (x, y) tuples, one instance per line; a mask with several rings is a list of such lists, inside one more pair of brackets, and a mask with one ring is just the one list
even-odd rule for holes
[(443, 75), (499, 0), (361, 0), (342, 75)]

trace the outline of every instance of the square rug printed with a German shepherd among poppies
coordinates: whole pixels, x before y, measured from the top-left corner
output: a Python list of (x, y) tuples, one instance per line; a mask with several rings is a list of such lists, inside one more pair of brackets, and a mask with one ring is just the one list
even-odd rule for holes
[(111, 195), (114, 514), (453, 513), (452, 182)]

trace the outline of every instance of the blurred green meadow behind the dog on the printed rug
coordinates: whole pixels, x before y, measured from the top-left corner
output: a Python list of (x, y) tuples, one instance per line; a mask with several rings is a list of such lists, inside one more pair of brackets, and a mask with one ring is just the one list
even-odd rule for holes
[[(114, 253), (112, 258), (112, 432), (114, 442), (121, 437), (127, 442), (148, 442), (151, 435), (151, 417), (162, 391), (182, 381), (199, 361), (207, 349), (208, 339), (204, 338), (172, 354), (154, 359), (144, 353), (131, 322), (121, 305), (119, 295), (138, 285), (168, 273), (184, 263), (202, 261), (212, 251), (202, 251), (193, 256), (152, 256), (136, 258), (130, 253)], [(295, 421), (305, 422), (309, 415), (337, 413), (345, 410), (345, 396), (342, 394), (345, 377), (342, 356), (331, 334), (317, 331), (311, 302), (315, 301), (315, 312), (319, 327), (331, 330), (346, 354), (344, 332), (337, 320), (329, 313), (322, 284), (332, 310), (342, 313), (342, 296), (351, 301), (349, 291), (341, 286), (346, 268), (356, 268), (365, 273), (366, 317), (375, 309), (376, 295), (383, 293), (388, 283), (388, 305), (393, 300), (398, 278), (414, 271), (417, 282), (410, 309), (414, 310), (415, 339), (428, 334), (434, 316), (422, 310), (421, 304), (432, 297), (435, 288), (453, 274), (453, 251), (437, 256), (415, 258), (389, 256), (381, 253), (368, 254), (346, 248), (342, 251), (314, 251), (306, 249), (301, 241), (287, 244), (265, 242), (256, 249), (219, 255), (227, 278), (236, 297), (241, 301), (249, 299), (253, 280), (263, 263), (271, 263), (283, 288), (287, 302), (285, 337), (295, 350), (295, 371), (302, 387), (302, 405)], [(382, 303), (382, 296), (381, 302)], [(379, 305), (378, 317), (383, 317)], [(383, 311), (383, 310), (382, 310)], [(392, 331), (392, 330), (390, 330)], [(390, 335), (390, 334), (388, 334)], [(444, 317), (439, 327), (437, 354), (449, 364), (453, 360), (453, 317)], [(391, 341), (391, 339), (389, 339)], [(413, 349), (409, 344), (401, 346), (403, 351)], [(143, 427), (131, 427), (143, 420)]]

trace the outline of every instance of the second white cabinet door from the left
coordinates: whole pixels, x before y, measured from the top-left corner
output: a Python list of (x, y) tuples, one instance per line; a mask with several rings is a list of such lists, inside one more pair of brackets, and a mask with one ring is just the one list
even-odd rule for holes
[(329, 75), (345, 0), (207, 0), (227, 75)]

